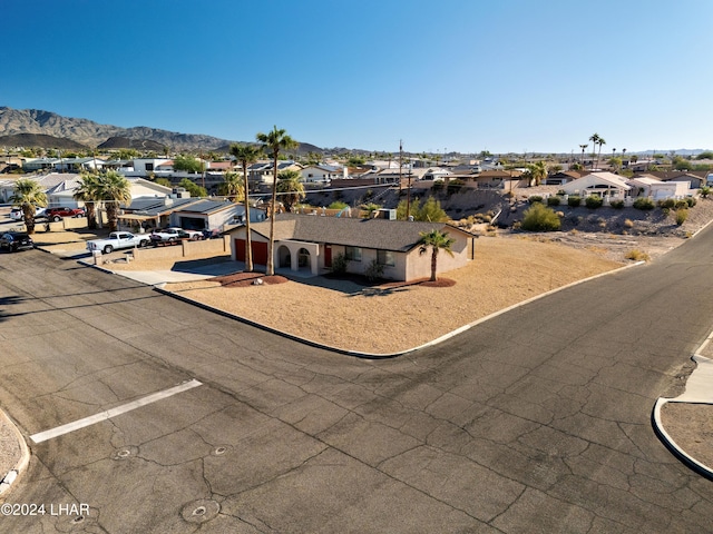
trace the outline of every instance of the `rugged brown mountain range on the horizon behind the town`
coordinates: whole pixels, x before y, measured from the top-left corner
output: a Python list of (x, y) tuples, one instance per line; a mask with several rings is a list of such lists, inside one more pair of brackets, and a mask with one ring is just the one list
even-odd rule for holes
[[(40, 147), (59, 149), (134, 148), (138, 150), (172, 151), (215, 150), (227, 151), (227, 139), (199, 134), (178, 134), (145, 126), (120, 128), (100, 125), (88, 119), (62, 117), (40, 109), (12, 109), (0, 107), (0, 146)], [(297, 152), (322, 151), (300, 144)]]

